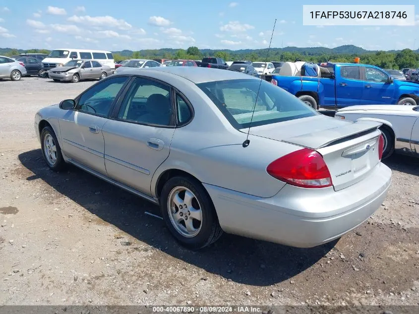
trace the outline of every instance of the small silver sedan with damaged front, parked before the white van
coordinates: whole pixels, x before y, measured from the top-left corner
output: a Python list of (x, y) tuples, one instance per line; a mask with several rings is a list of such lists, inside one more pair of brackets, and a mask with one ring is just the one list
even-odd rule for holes
[(64, 66), (54, 67), (48, 71), (48, 77), (55, 82), (71, 81), (77, 83), (81, 79), (104, 79), (112, 74), (109, 65), (94, 60), (70, 60)]

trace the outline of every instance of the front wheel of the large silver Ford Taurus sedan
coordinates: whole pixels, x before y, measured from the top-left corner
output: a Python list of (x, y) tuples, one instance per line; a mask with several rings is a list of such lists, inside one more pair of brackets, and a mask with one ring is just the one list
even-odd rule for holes
[(65, 166), (62, 158), (60, 144), (51, 126), (45, 126), (41, 131), (42, 155), (48, 167), (54, 171), (59, 171)]

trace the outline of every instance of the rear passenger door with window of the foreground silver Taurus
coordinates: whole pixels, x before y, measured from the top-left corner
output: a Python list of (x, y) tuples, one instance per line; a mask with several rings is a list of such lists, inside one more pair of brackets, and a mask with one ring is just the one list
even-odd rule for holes
[(150, 194), (156, 169), (169, 156), (175, 131), (170, 86), (137, 77), (103, 128), (109, 177)]

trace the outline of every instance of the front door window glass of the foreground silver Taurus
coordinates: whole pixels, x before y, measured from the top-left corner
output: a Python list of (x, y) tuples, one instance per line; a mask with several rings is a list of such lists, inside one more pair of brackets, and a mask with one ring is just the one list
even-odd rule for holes
[(93, 86), (80, 96), (77, 109), (81, 112), (108, 116), (112, 104), (126, 80), (126, 76), (118, 76)]

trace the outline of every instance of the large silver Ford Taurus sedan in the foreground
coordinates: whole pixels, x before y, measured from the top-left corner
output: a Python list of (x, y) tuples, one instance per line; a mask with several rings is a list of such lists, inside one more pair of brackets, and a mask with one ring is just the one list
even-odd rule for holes
[(35, 117), (51, 169), (69, 163), (158, 204), (191, 249), (223, 231), (314, 247), (352, 230), (390, 186), (379, 126), (321, 115), (242, 73), (183, 66), (126, 69)]

